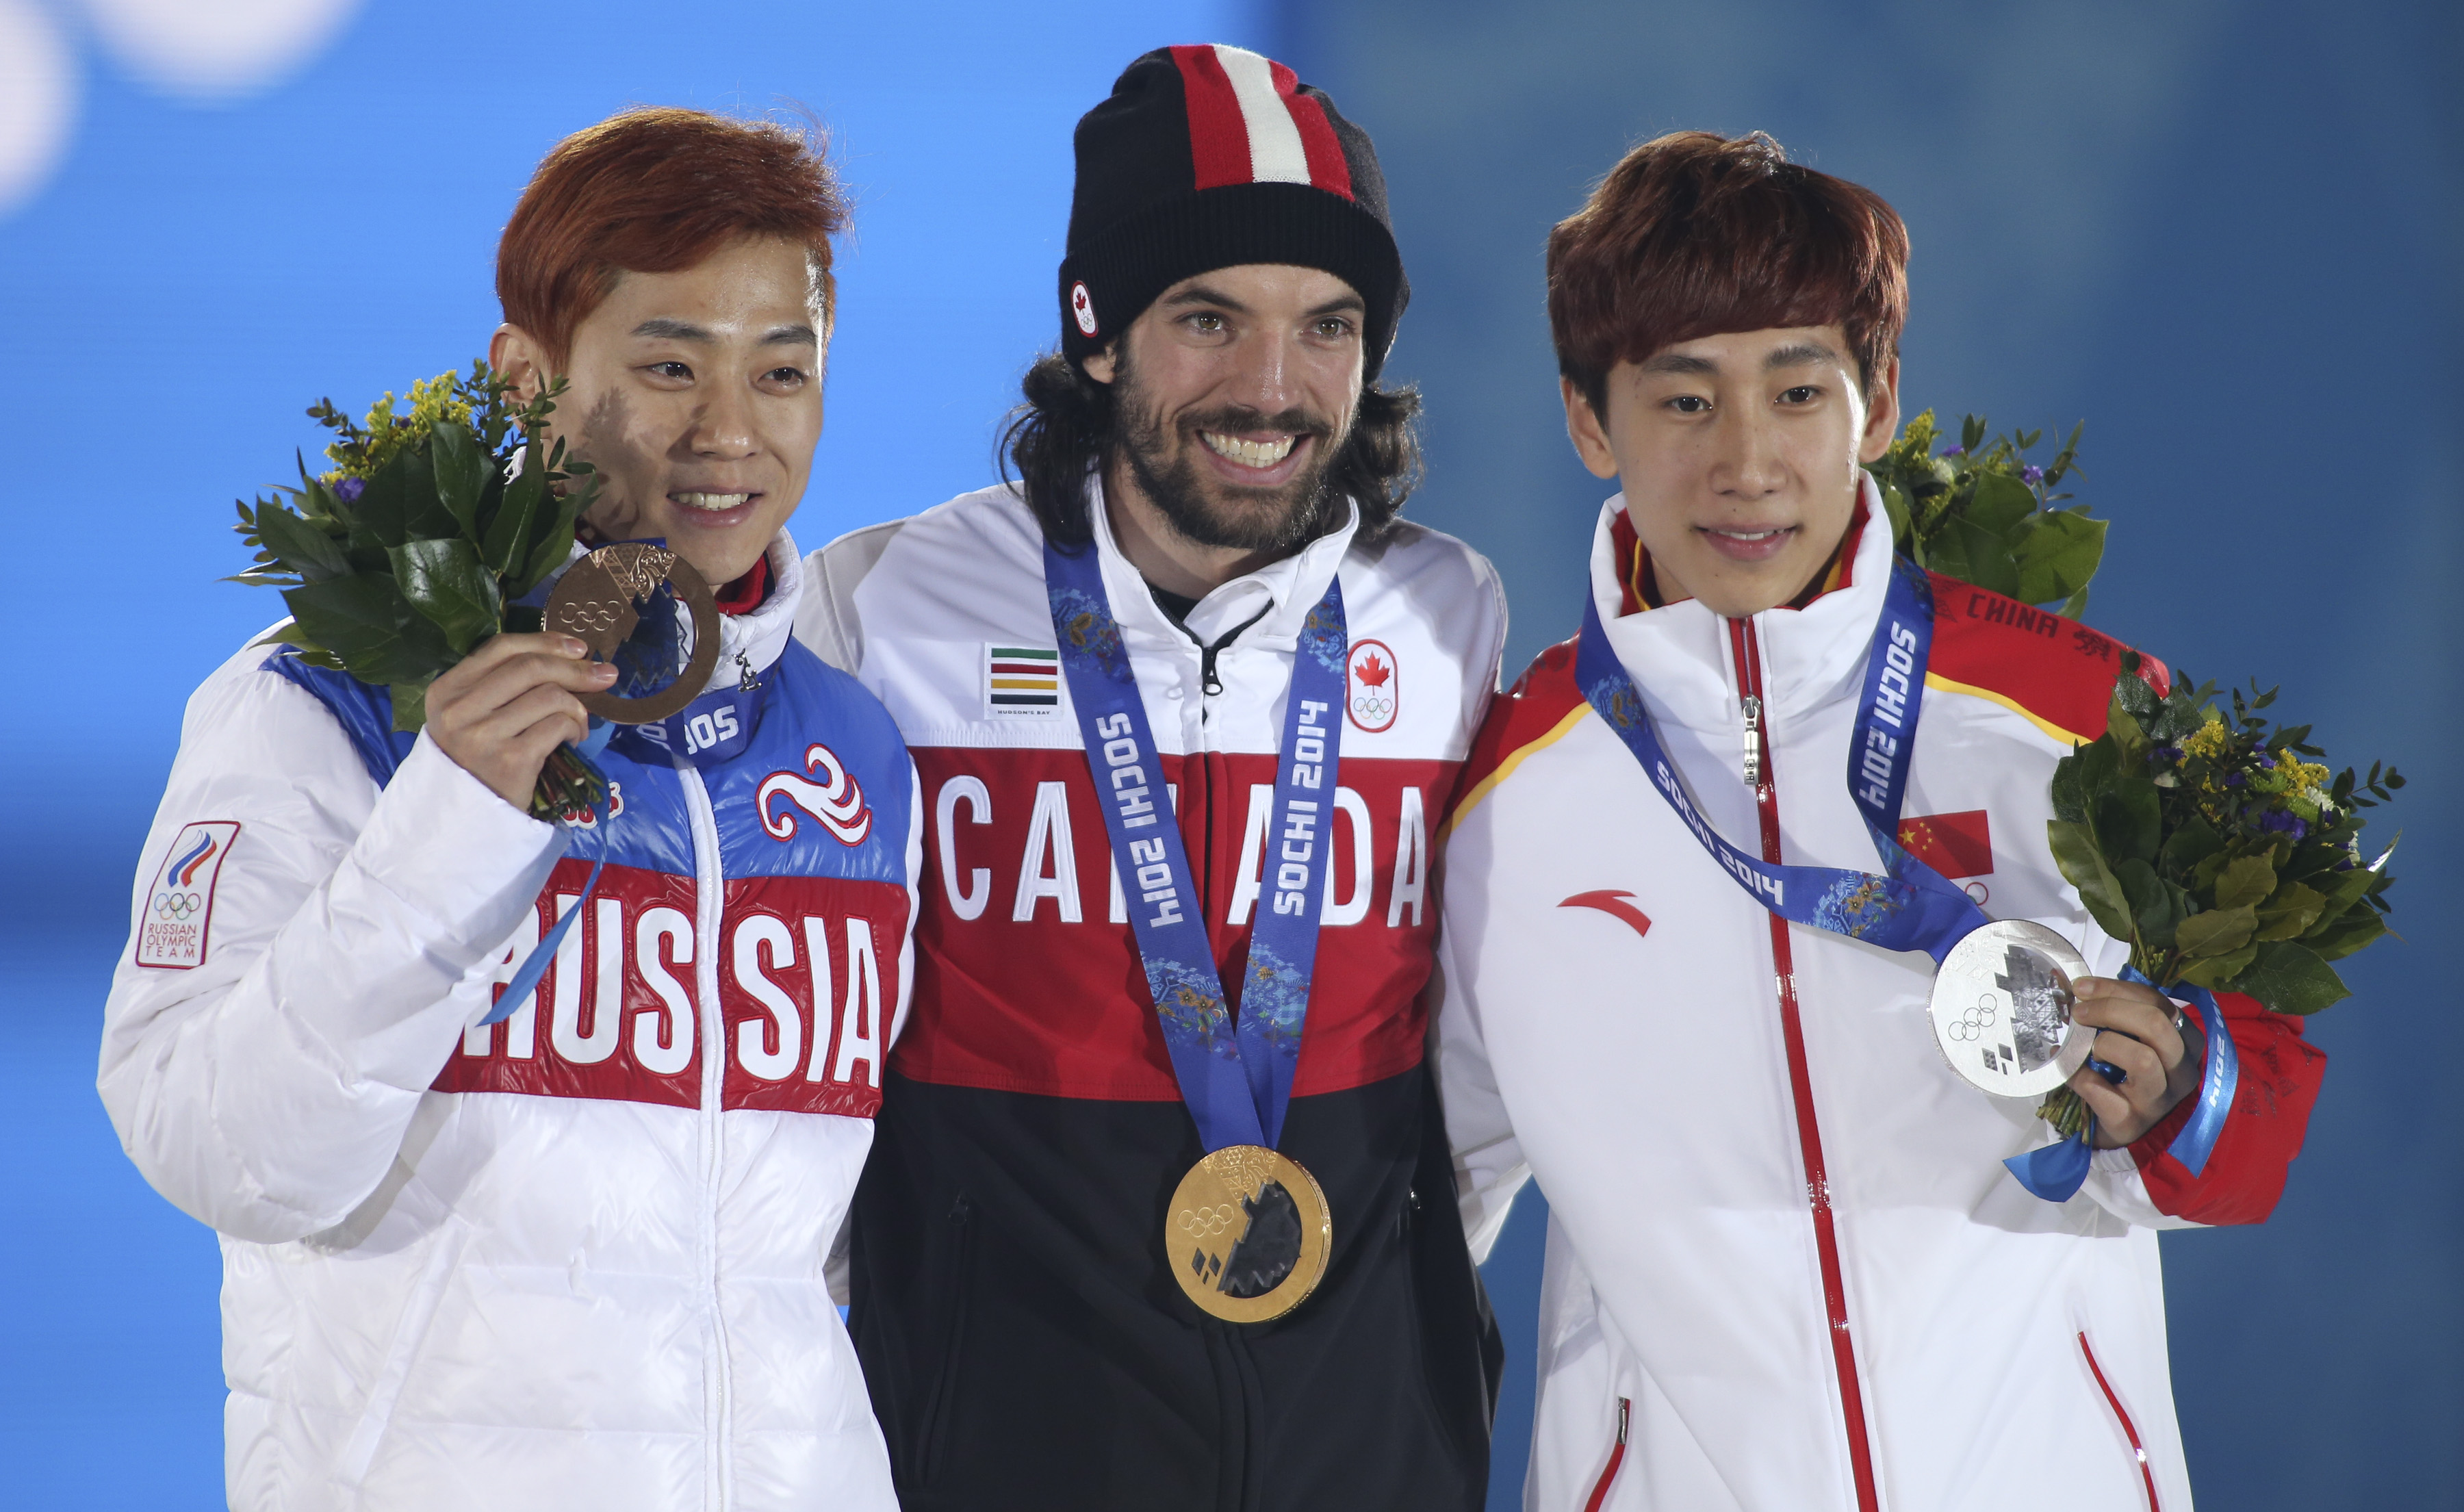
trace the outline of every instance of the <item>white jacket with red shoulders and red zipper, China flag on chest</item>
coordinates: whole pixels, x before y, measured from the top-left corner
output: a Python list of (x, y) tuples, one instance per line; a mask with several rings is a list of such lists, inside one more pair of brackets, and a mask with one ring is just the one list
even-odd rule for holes
[[(1890, 574), (1868, 517), (1870, 483), (1846, 581), (1749, 621), (1641, 611), (1621, 500), (1592, 544), (1609, 643), (1695, 805), (1774, 862), (1878, 869), (1848, 798)], [(1944, 1064), (1932, 963), (1774, 923), (1592, 714), (1572, 648), (1498, 699), (1446, 842), (1439, 1076), (1473, 1251), (1528, 1175), (1550, 1202), (1525, 1505), (1848, 1512), (1863, 1460), (1865, 1505), (1895, 1512), (2186, 1512), (2156, 1229), (2274, 1207), (2321, 1074), (2299, 1019), (2223, 997), (2242, 1081), (2200, 1180), (2163, 1152), (2183, 1103), (2070, 1202), (2030, 1197), (2001, 1162), (2053, 1130)], [(2119, 655), (1937, 576), (1900, 827), (1991, 916), (2053, 926), (2107, 975), (2126, 951), (2045, 822)]]

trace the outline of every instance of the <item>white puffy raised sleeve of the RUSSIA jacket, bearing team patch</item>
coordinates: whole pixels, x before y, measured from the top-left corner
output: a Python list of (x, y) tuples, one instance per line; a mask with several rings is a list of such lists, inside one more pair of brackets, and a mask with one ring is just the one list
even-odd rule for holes
[[(187, 704), (96, 1084), (163, 1197), (271, 1244), (330, 1229), (384, 1180), (564, 835), (426, 736), (379, 790), (333, 714), (264, 655), (241, 653)], [(190, 822), (237, 825), (202, 960), (138, 965), (136, 931)]]

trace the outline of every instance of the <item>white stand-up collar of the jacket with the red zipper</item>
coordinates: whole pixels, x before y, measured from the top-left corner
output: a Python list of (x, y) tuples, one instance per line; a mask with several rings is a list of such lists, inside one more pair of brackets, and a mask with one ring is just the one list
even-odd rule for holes
[[(1873, 625), (1882, 618), (1882, 593), (1890, 584), (1890, 515), (1870, 475), (1860, 475), (1865, 529), (1858, 532), (1848, 584), (1804, 608), (1767, 608), (1754, 616), (1762, 643), (1762, 697), (1774, 724), (1786, 729), (1833, 699), (1855, 697), (1865, 670)], [(1611, 527), (1626, 510), (1626, 495), (1599, 507), (1592, 529), (1592, 603), (1609, 633), (1609, 650), (1643, 690), (1653, 719), (1673, 719), (1690, 729), (1727, 731), (1737, 726), (1737, 665), (1730, 657), (1727, 621), (1698, 598), (1619, 616), (1624, 581), (1619, 576)]]

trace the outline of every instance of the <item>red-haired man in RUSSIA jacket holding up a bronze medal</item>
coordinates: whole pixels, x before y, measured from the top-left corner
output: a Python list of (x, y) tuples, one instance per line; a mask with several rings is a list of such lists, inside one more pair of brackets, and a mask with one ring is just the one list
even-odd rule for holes
[(200, 943), (123, 958), (101, 1093), (222, 1234), (232, 1507), (894, 1505), (823, 1263), (907, 1005), (914, 766), (791, 640), (784, 529), (843, 222), (803, 135), (628, 111), (505, 229), (490, 360), (569, 382), (582, 544), (722, 584), (717, 672), (614, 731), (604, 815), (525, 808), (614, 675), (564, 635), (483, 643), (416, 739), (261, 645), (190, 702), (138, 879)]

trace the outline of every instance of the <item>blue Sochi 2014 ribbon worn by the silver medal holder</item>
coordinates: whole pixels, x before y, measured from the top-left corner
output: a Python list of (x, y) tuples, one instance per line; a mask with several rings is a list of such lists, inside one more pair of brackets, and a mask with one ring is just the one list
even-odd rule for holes
[[(1624, 662), (1609, 648), (1609, 635), (1599, 621), (1592, 593), (1582, 603), (1582, 638), (1574, 645), (1574, 682), (1592, 709), (1616, 731), (1634, 758), (1651, 776), (1651, 786), (1685, 820), (1703, 850), (1708, 850), (1730, 877), (1737, 879), (1757, 904), (1791, 923), (1828, 928), (1885, 951), (1924, 951), (1942, 965), (1969, 931), (1986, 923), (1984, 909), (1964, 889), (1951, 887), (1939, 872), (1907, 855), (1900, 845), (1900, 808), (1907, 800), (1907, 768), (1917, 751), (1917, 717), (1924, 707), (1924, 662), (1934, 645), (1934, 593), (1924, 571), (1905, 557), (1892, 557), (1890, 584), (1882, 593), (1882, 616), (1873, 628), (1873, 645), (1865, 653), (1865, 690), (1858, 699), (1855, 739), (1848, 746), (1848, 795), (1873, 835), (1882, 857), (1882, 874), (1850, 872), (1841, 867), (1781, 867), (1747, 855), (1730, 845), (1712, 825), (1695, 813), (1685, 786), (1676, 776), (1676, 763), (1651, 731), (1651, 714), (1643, 709), (1643, 692), (1626, 675)], [(2122, 970), (2124, 980), (2146, 983), (2136, 968)], [(2208, 1029), (2208, 1061), (2200, 1081), (2198, 1111), (2173, 1138), (2168, 1152), (2198, 1177), (2208, 1167), (2208, 1152), (2225, 1128), (2232, 1108), (2232, 1091), (2240, 1079), (2240, 1056), (2225, 1032), (2225, 1017), (2215, 995), (2205, 987), (2181, 987), (2183, 997), (2200, 1010)], [(2104, 1061), (2089, 1061), (2107, 1079), (2119, 1081), (2119, 1071)], [(2043, 1150), (2003, 1160), (2013, 1177), (2045, 1202), (2070, 1202), (2089, 1170), (2089, 1138), (2094, 1120), (2082, 1133)]]

